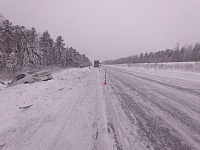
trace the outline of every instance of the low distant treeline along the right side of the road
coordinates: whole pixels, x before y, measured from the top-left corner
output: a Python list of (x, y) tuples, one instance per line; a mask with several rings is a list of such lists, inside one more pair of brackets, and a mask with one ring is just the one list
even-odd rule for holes
[(194, 46), (183, 46), (158, 52), (140, 53), (116, 60), (106, 60), (102, 64), (127, 64), (127, 63), (163, 63), (163, 62), (191, 62), (200, 61), (200, 43)]

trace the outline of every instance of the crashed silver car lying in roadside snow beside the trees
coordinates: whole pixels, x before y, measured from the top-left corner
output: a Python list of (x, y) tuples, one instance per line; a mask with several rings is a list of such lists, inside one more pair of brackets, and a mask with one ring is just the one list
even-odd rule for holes
[(39, 72), (26, 72), (16, 76), (8, 86), (13, 86), (22, 83), (34, 83), (39, 81), (47, 81), (53, 79), (49, 71), (39, 71)]

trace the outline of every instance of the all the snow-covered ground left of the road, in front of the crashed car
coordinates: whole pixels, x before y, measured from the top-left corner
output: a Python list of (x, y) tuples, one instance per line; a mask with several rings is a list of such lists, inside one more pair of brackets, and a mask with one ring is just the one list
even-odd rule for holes
[[(96, 74), (67, 69), (47, 82), (0, 91), (0, 149), (92, 149), (96, 136)], [(29, 108), (23, 106), (32, 105)]]

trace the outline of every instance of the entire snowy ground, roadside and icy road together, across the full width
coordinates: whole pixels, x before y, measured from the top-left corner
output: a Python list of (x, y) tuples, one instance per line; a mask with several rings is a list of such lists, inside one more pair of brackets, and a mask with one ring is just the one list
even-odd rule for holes
[(105, 66), (53, 77), (0, 87), (0, 150), (200, 149), (198, 73)]

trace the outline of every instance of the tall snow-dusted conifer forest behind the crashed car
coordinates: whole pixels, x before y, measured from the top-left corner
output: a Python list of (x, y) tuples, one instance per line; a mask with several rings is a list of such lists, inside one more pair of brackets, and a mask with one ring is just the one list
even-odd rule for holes
[(39, 35), (34, 27), (12, 25), (0, 14), (0, 71), (19, 71), (45, 66), (89, 66), (90, 60), (72, 47), (65, 47), (64, 39), (54, 41), (48, 31)]

